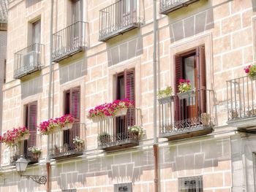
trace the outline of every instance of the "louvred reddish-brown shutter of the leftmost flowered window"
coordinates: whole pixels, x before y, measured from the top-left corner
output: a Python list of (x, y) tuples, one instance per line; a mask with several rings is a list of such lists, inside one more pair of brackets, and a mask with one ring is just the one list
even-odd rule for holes
[(28, 104), (28, 128), (29, 140), (27, 147), (37, 146), (37, 101)]

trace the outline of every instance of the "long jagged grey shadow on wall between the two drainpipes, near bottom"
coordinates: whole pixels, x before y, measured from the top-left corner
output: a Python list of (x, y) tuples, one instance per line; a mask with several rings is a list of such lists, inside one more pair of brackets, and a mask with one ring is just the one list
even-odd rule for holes
[(153, 150), (105, 155), (54, 166), (52, 180), (62, 189), (91, 186), (94, 180), (96, 185), (134, 183), (140, 180), (144, 170), (154, 172)]

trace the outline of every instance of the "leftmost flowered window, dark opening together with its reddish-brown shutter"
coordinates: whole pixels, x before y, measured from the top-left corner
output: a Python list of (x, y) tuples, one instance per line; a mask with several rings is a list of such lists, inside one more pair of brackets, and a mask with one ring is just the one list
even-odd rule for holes
[(23, 154), (25, 158), (31, 157), (29, 147), (37, 146), (37, 101), (25, 106), (25, 125), (29, 128), (29, 139), (23, 141)]

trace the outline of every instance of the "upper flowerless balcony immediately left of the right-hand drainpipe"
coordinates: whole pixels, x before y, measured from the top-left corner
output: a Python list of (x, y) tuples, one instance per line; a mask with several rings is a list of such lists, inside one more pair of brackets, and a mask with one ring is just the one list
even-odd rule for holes
[(120, 0), (99, 10), (99, 41), (142, 26), (143, 16), (143, 0)]

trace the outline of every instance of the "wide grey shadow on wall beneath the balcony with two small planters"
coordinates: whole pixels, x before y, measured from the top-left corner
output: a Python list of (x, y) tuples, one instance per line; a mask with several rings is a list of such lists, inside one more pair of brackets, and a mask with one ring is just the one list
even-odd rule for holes
[(187, 176), (189, 170), (202, 174), (203, 169), (218, 167), (219, 161), (230, 159), (230, 139), (207, 139), (159, 150), (161, 168), (171, 167), (176, 174), (187, 171)]

